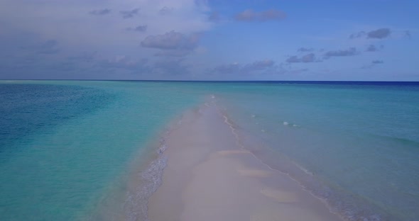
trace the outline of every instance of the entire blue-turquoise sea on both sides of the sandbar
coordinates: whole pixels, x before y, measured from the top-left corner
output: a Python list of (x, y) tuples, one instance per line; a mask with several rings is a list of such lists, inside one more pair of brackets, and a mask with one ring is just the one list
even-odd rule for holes
[(164, 136), (209, 94), (332, 212), (419, 220), (418, 83), (0, 81), (1, 220), (147, 220)]

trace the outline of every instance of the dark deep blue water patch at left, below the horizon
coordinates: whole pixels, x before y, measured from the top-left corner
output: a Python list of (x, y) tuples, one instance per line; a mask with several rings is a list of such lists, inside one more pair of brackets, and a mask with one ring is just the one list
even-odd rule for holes
[(53, 130), (65, 120), (106, 107), (115, 98), (81, 86), (0, 84), (0, 153), (13, 152), (23, 137)]

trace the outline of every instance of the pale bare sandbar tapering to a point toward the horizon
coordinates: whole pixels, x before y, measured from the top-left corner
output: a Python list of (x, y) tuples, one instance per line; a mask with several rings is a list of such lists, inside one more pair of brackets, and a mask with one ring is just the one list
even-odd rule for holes
[(151, 221), (342, 220), (286, 174), (241, 149), (214, 103), (167, 137), (163, 183), (148, 200)]

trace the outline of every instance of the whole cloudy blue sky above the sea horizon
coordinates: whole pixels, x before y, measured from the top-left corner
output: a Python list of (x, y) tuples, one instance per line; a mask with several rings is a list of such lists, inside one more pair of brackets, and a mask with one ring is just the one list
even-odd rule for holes
[(0, 0), (0, 79), (419, 81), (419, 1)]

